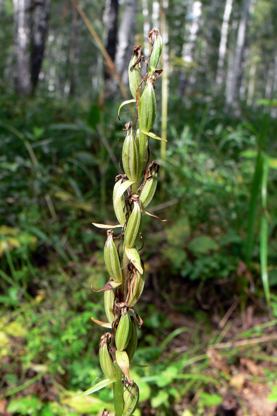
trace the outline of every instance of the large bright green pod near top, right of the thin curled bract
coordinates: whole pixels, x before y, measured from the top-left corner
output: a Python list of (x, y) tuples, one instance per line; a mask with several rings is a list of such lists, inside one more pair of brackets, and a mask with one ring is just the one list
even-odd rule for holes
[(153, 87), (154, 77), (148, 77), (148, 85), (144, 88), (141, 99), (138, 100), (139, 127), (148, 133), (156, 119), (156, 97)]

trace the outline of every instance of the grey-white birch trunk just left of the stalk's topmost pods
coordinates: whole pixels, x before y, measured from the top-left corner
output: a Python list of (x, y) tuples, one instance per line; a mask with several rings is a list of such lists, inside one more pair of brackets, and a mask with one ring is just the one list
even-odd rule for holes
[(137, 0), (126, 0), (124, 14), (118, 31), (118, 45), (116, 48), (116, 69), (125, 84), (128, 83), (128, 67), (134, 53)]

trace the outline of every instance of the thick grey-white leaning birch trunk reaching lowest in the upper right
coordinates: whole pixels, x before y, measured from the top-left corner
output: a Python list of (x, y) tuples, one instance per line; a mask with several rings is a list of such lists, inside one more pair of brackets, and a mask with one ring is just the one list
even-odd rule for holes
[(242, 15), (240, 18), (240, 24), (237, 30), (237, 46), (235, 50), (234, 64), (231, 72), (230, 83), (228, 84), (227, 94), (226, 94), (226, 104), (227, 106), (232, 106), (234, 99), (238, 95), (238, 79), (241, 72), (241, 60), (242, 60), (242, 50), (245, 44), (245, 32), (247, 27), (247, 20), (249, 14), (249, 7), (251, 0), (244, 0)]

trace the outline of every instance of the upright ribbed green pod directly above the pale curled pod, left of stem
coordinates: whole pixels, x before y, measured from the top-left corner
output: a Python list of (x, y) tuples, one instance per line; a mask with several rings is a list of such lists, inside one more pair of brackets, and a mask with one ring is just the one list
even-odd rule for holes
[(130, 181), (136, 181), (138, 176), (138, 151), (131, 126), (123, 143), (122, 163), (127, 178)]

